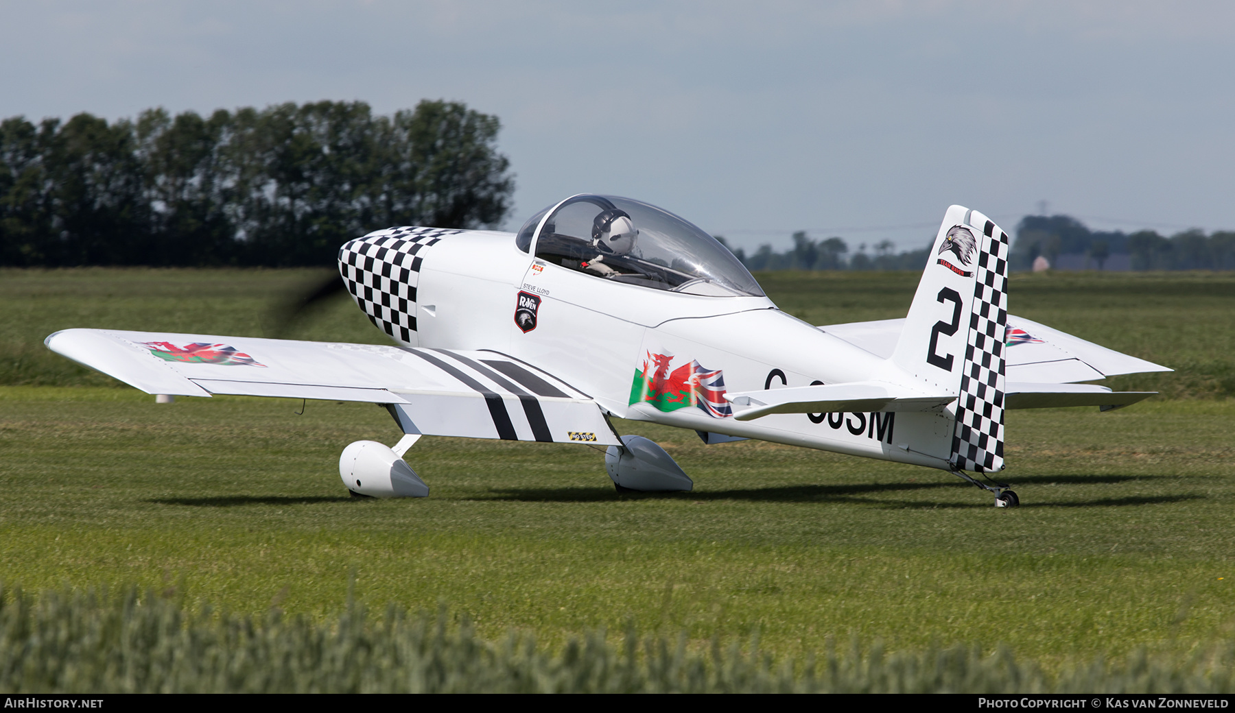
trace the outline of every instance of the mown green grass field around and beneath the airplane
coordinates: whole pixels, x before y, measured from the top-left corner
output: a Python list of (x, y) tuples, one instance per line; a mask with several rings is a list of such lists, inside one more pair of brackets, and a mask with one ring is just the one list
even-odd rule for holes
[[(485, 637), (561, 643), (634, 622), (699, 645), (760, 632), (797, 656), (832, 637), (890, 649), (1008, 644), (1058, 667), (1235, 637), (1235, 275), (1018, 275), (1011, 311), (1177, 368), (1124, 377), (1128, 410), (1011, 412), (1023, 507), (951, 475), (763, 443), (662, 445), (692, 493), (619, 496), (599, 453), (425, 438), (417, 501), (357, 501), (350, 442), (393, 443), (369, 405), (216, 397), (156, 406), (46, 352), (65, 327), (268, 334), (296, 271), (0, 271), (0, 580), (136, 583), (317, 620), (351, 588), (380, 609), (446, 603)], [(904, 316), (918, 275), (769, 274), (814, 323)], [(289, 337), (380, 343), (354, 306)], [(1228, 524), (1223, 524), (1228, 523)]]

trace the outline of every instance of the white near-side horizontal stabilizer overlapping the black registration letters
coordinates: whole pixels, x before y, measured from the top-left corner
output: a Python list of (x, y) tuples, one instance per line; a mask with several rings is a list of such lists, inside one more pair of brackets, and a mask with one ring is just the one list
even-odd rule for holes
[(956, 396), (924, 395), (878, 381), (818, 384), (795, 389), (743, 391), (726, 396), (735, 406), (734, 418), (751, 421), (772, 413), (840, 413), (872, 411), (930, 411), (953, 401)]

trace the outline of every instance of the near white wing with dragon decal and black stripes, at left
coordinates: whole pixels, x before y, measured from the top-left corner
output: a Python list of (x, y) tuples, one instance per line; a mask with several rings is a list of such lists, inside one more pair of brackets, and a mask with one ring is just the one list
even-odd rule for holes
[(590, 396), (496, 352), (116, 329), (44, 343), (147, 394), (367, 401), (405, 433), (620, 445)]

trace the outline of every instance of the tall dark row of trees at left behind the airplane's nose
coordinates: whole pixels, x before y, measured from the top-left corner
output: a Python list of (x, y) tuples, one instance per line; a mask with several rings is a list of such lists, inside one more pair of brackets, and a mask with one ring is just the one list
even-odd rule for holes
[(496, 227), (496, 117), (421, 101), (0, 122), (0, 264), (322, 265), (375, 228)]

